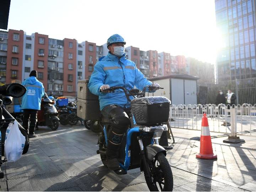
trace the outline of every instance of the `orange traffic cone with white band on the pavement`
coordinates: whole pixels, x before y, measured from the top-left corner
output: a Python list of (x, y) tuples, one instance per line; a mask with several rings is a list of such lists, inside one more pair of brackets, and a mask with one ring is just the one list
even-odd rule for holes
[(200, 159), (217, 159), (217, 155), (213, 154), (210, 129), (206, 113), (204, 113), (202, 117), (200, 153), (196, 154), (196, 157)]

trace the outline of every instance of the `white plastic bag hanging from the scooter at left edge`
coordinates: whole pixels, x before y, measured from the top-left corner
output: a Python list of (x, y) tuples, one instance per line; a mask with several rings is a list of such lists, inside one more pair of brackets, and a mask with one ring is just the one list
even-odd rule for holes
[(17, 161), (21, 158), (26, 138), (20, 132), (18, 128), (18, 123), (15, 120), (14, 123), (9, 123), (6, 129), (5, 135), (5, 158), (9, 162)]

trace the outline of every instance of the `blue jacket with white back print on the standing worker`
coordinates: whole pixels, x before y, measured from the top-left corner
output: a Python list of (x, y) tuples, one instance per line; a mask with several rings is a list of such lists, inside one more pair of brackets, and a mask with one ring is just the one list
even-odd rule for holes
[(22, 82), (27, 88), (26, 94), (22, 97), (22, 109), (40, 110), (41, 98), (44, 95), (44, 86), (37, 80), (36, 77), (31, 76)]

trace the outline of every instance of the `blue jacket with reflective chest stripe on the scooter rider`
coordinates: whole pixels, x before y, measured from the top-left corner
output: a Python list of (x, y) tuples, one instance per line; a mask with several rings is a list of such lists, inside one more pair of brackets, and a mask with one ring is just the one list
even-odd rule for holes
[[(100, 100), (100, 110), (106, 105), (116, 104), (123, 108), (130, 107), (130, 102), (124, 92), (101, 93), (99, 92), (101, 85), (123, 86), (130, 90), (136, 86), (139, 90), (143, 90), (146, 85), (151, 85), (142, 72), (137, 69), (134, 62), (126, 59), (124, 54), (120, 60), (116, 55), (108, 53), (101, 61), (94, 66), (88, 87), (92, 94), (98, 95)], [(116, 90), (122, 91), (122, 90)], [(133, 99), (130, 96), (130, 99)]]

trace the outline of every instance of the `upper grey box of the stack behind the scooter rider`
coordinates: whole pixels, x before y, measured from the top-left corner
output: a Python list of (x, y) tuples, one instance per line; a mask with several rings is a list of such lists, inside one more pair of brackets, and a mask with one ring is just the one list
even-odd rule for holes
[(88, 89), (89, 80), (78, 80), (78, 98), (83, 100), (98, 100)]

